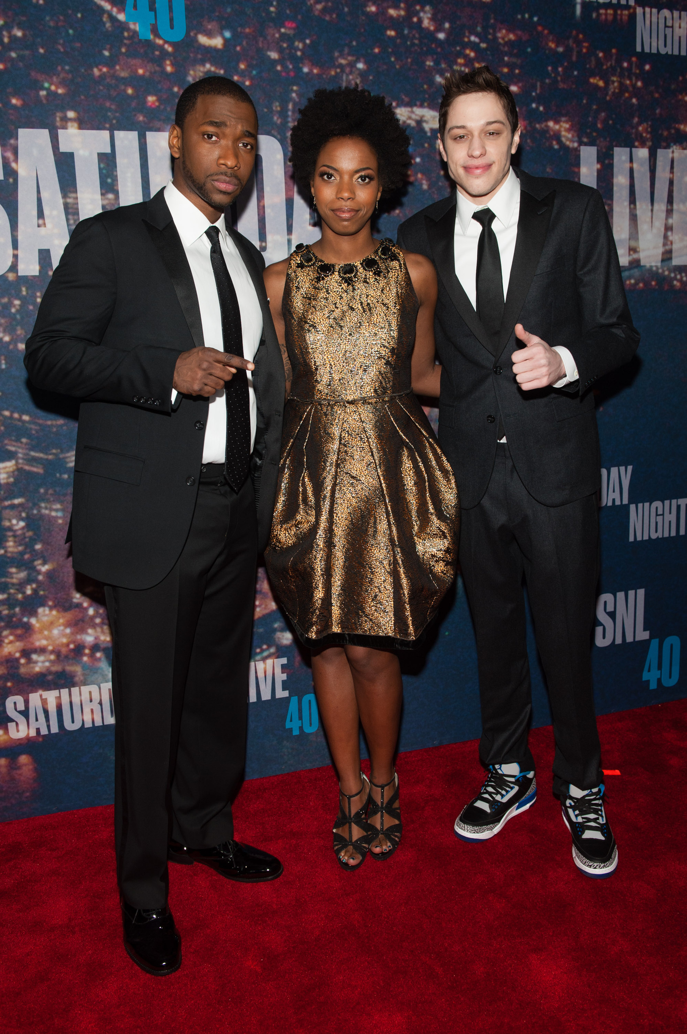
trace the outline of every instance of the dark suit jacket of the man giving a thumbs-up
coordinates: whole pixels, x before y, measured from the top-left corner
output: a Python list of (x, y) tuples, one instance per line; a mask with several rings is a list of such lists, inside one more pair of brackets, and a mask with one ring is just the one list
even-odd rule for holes
[[(501, 333), (490, 339), (456, 276), (456, 195), (399, 227), (398, 243), (437, 270), (435, 334), (442, 364), (439, 442), (454, 468), (461, 504), (487, 490), (501, 417), (527, 490), (545, 506), (591, 495), (600, 484), (594, 382), (628, 362), (639, 342), (603, 200), (568, 180), (518, 172), (520, 218)], [(569, 348), (580, 381), (524, 392), (510, 356), (522, 323), (551, 345)]]

